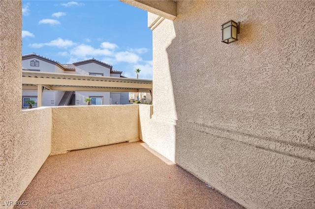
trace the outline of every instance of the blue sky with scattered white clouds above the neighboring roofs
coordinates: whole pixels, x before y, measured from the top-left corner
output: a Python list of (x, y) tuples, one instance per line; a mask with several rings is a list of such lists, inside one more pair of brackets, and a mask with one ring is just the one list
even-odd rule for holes
[(62, 64), (95, 58), (136, 78), (152, 79), (147, 12), (118, 0), (23, 0), (22, 54)]

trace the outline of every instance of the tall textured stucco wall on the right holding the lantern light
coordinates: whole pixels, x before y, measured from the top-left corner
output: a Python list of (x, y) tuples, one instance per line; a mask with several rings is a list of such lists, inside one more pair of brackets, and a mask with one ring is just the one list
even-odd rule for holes
[(315, 1), (179, 0), (177, 14), (153, 30), (152, 115), (178, 119), (176, 163), (248, 208), (315, 208)]

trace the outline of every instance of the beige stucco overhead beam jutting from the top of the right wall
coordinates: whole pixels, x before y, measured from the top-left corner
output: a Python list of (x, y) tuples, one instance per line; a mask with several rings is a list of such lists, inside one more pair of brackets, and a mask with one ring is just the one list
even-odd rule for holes
[(160, 17), (174, 20), (177, 16), (176, 2), (173, 0), (120, 0), (124, 3), (146, 10)]

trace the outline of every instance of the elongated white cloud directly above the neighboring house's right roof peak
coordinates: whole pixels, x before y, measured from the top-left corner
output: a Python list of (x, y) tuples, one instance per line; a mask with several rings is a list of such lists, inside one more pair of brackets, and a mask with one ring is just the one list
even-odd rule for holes
[(70, 50), (70, 54), (76, 57), (85, 58), (89, 56), (108, 56), (113, 52), (108, 49), (95, 49), (94, 47), (86, 44), (80, 44), (79, 46)]

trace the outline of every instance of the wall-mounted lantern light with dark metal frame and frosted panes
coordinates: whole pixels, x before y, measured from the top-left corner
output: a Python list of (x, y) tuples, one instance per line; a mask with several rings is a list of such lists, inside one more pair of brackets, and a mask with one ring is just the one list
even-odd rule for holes
[(233, 21), (230, 20), (226, 23), (222, 24), (221, 27), (222, 30), (222, 41), (225, 44), (229, 44), (232, 43), (234, 41), (237, 41), (237, 34), (240, 33), (240, 22), (238, 22), (238, 24)]

